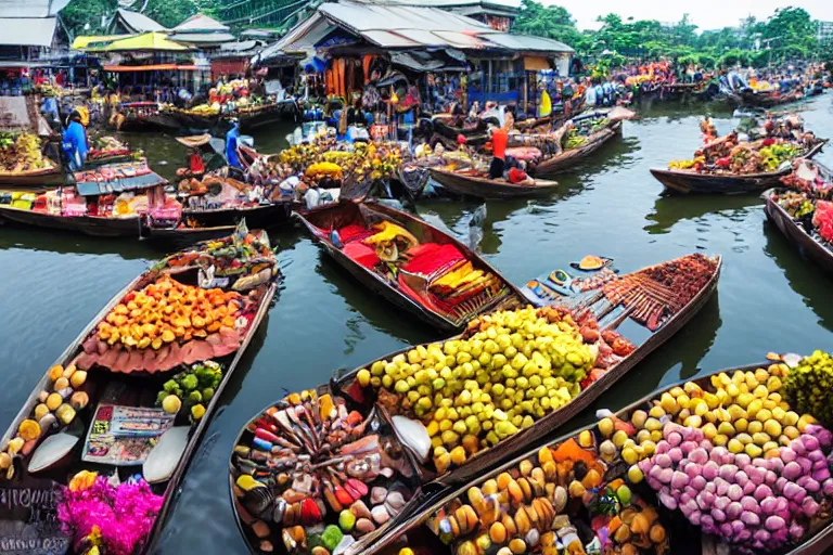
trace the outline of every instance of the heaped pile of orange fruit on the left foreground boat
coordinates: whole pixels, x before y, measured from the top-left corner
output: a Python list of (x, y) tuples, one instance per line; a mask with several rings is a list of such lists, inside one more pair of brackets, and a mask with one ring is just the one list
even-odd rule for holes
[(110, 345), (159, 349), (176, 339), (207, 337), (221, 326), (234, 326), (239, 298), (236, 292), (183, 285), (165, 275), (116, 305), (99, 324), (98, 338)]

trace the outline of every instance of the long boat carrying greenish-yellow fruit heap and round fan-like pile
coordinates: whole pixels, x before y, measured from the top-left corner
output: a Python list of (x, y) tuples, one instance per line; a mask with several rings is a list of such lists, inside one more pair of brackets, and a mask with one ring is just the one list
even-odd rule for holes
[[(611, 268), (595, 261), (576, 266), (588, 279)], [(438, 491), (566, 424), (688, 321), (719, 271), (719, 258), (691, 255), (600, 278), (558, 305), (480, 314), (460, 336), (289, 396), (248, 424), (232, 453), (246, 540), (257, 553), (281, 543), (289, 553), (368, 553)], [(642, 313), (655, 307), (664, 315), (651, 331)]]

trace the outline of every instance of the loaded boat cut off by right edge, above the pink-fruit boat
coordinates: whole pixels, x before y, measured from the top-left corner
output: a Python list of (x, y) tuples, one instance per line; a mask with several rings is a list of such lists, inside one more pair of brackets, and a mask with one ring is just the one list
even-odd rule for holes
[(767, 217), (805, 256), (833, 273), (833, 175), (815, 160), (798, 160), (781, 182), (785, 186), (761, 195)]

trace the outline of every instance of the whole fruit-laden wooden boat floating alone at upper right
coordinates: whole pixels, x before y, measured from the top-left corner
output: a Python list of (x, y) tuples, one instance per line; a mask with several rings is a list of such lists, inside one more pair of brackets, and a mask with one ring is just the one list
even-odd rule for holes
[[(797, 122), (796, 122), (797, 121)], [(799, 118), (768, 119), (756, 139), (733, 131), (716, 138), (704, 128), (705, 144), (690, 160), (675, 160), (668, 169), (651, 169), (665, 186), (678, 193), (738, 194), (776, 186), (789, 175), (791, 163), (812, 158), (826, 140), (804, 130)], [(746, 137), (744, 137), (746, 135)]]

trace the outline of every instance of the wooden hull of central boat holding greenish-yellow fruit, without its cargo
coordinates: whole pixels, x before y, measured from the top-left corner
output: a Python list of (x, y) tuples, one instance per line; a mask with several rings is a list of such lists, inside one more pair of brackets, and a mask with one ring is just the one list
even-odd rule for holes
[[(672, 260), (669, 262), (666, 262), (666, 264), (675, 264), (679, 263), (678, 260)], [(671, 317), (669, 320), (667, 320), (662, 327), (656, 330), (655, 332), (651, 333), (648, 337), (644, 337), (644, 333), (641, 333), (642, 338), (639, 340), (639, 346), (636, 347), (635, 350), (632, 350), (629, 354), (625, 354), (621, 358), (617, 359), (617, 362), (610, 366), (606, 372), (601, 376), (594, 376), (595, 380), (591, 382), (590, 384), (582, 386), (584, 389), (575, 396), (569, 402), (566, 404), (561, 405), (559, 409), (551, 411), (547, 414), (544, 414), (542, 417), (538, 418), (536, 422), (534, 422), (529, 427), (516, 433), (513, 436), (509, 436), (499, 442), (495, 444), (491, 448), (487, 448), (485, 450), (482, 450), (477, 453), (467, 452), (466, 459), (463, 463), (460, 463), (459, 466), (456, 466), (451, 469), (439, 469), (436, 466), (433, 466), (431, 463), (421, 463), (420, 461), (424, 461), (424, 459), (420, 459), (418, 456), (418, 473), (416, 477), (421, 481), (421, 486), (416, 490), (411, 490), (412, 495), (408, 495), (406, 499), (406, 502), (397, 507), (397, 514), (392, 515), (390, 520), (387, 520), (387, 524), (380, 522), (375, 526), (375, 529), (373, 529), (370, 532), (367, 532), (366, 535), (362, 535), (355, 544), (347, 546), (345, 553), (346, 555), (357, 555), (359, 553), (366, 554), (366, 553), (377, 553), (381, 552), (381, 550), (386, 548), (388, 545), (392, 545), (395, 540), (407, 530), (410, 530), (412, 528), (415, 528), (422, 524), (425, 519), (425, 515), (427, 514), (427, 507), (432, 506), (431, 503), (436, 502), (438, 499), (444, 499), (444, 494), (448, 494), (450, 491), (449, 488), (451, 487), (460, 487), (462, 485), (469, 485), (478, 478), (482, 478), (486, 476), (486, 473), (491, 473), (498, 465), (504, 463), (505, 461), (511, 461), (513, 457), (517, 456), (518, 454), (528, 451), (529, 446), (536, 444), (537, 442), (541, 441), (546, 437), (551, 437), (551, 434), (556, 431), (558, 429), (561, 429), (563, 426), (565, 426), (571, 418), (573, 418), (576, 414), (578, 414), (581, 410), (589, 406), (593, 401), (598, 399), (598, 397), (606, 389), (612, 387), (612, 385), (621, 378), (628, 371), (630, 371), (639, 361), (641, 361), (644, 357), (646, 357), (651, 351), (656, 349), (659, 345), (662, 345), (664, 341), (666, 341), (671, 335), (674, 335), (677, 331), (679, 331), (682, 325), (684, 325), (690, 319), (694, 317), (694, 314), (700, 310), (700, 308), (703, 307), (703, 305), (708, 300), (710, 294), (715, 291), (717, 285), (717, 280), (719, 278), (720, 272), (720, 259), (719, 257), (714, 259), (714, 269), (713, 274), (708, 279), (708, 281), (703, 284), (702, 288), (690, 299), (690, 301), (682, 308), (679, 312), (677, 312), (674, 317)], [(658, 268), (663, 264), (657, 264), (656, 267), (650, 267), (650, 269)], [(605, 268), (607, 268), (605, 266)], [(682, 270), (680, 270), (682, 271)], [(553, 272), (554, 273), (554, 272)], [(591, 275), (597, 275), (594, 273), (591, 273)], [(635, 274), (636, 275), (636, 274)], [(633, 279), (629, 278), (628, 275), (623, 276), (623, 279)], [(574, 309), (573, 313), (580, 313), (584, 309), (589, 309), (590, 313), (593, 313), (598, 315), (601, 321), (607, 321), (607, 324), (605, 325), (606, 331), (613, 331), (614, 328), (617, 328), (621, 326), (623, 333), (627, 333), (628, 336), (637, 337), (637, 335), (640, 335), (640, 332), (638, 332), (635, 328), (629, 328), (626, 331), (627, 325), (623, 325), (626, 323), (632, 323), (629, 319), (630, 314), (633, 314), (635, 312), (625, 310), (623, 312), (618, 312), (617, 310), (614, 310), (614, 312), (610, 312), (610, 307), (604, 306), (605, 304), (602, 302), (600, 305), (597, 305), (597, 300), (593, 300), (594, 297), (598, 297), (597, 294), (593, 292), (585, 292), (585, 294), (579, 294), (576, 296), (572, 296), (566, 298), (566, 301), (569, 301)], [(564, 301), (565, 299), (562, 299)], [(547, 309), (544, 309), (547, 310)], [(606, 315), (602, 315), (606, 314)], [(487, 314), (484, 317), (484, 321), (488, 321), (489, 319), (495, 318), (495, 314)], [(476, 323), (475, 321), (474, 323)], [(633, 324), (638, 325), (638, 324)], [(470, 326), (470, 334), (473, 334), (476, 331), (482, 330), (478, 325)], [(450, 343), (454, 343), (457, 339), (461, 339), (464, 337), (467, 337), (469, 335), (463, 334), (462, 336), (451, 338), (449, 339), (449, 343), (446, 343), (445, 345), (448, 346)], [(608, 336), (610, 337), (610, 336)], [(361, 379), (361, 373), (367, 372), (367, 369), (374, 369), (377, 366), (385, 367), (386, 364), (390, 363), (390, 361), (396, 361), (397, 359), (403, 359), (406, 362), (409, 362), (412, 357), (419, 358), (419, 352), (422, 350), (422, 352), (431, 352), (430, 349), (436, 349), (439, 348), (440, 350), (444, 350), (444, 343), (440, 341), (438, 344), (428, 344), (423, 346), (416, 346), (416, 347), (409, 347), (407, 349), (402, 349), (397, 352), (393, 352), (382, 359), (379, 359), (376, 361), (373, 361), (367, 365), (361, 366), (360, 369), (355, 369), (354, 371), (343, 375), (343, 376), (336, 376), (329, 386), (322, 386), (318, 388), (318, 395), (324, 395), (328, 393), (330, 396), (333, 396), (335, 399), (346, 398), (348, 401), (350, 401), (348, 404), (349, 406), (356, 409), (360, 414), (362, 415), (372, 415), (374, 413), (381, 413), (386, 421), (389, 420), (396, 420), (399, 418), (400, 424), (403, 424), (403, 420), (407, 421), (412, 416), (409, 416), (409, 411), (401, 406), (400, 404), (395, 402), (395, 399), (387, 399), (382, 400), (382, 393), (376, 397), (374, 395), (374, 386), (371, 387), (362, 387), (360, 384)], [(436, 352), (436, 351), (435, 351)], [(414, 359), (416, 360), (416, 359)], [(412, 361), (410, 361), (412, 362)], [(395, 363), (394, 363), (395, 364)], [(372, 372), (376, 372), (373, 370)], [(377, 374), (373, 374), (377, 375)], [(366, 374), (367, 376), (367, 374)], [(372, 379), (372, 378), (371, 378)], [(297, 395), (297, 393), (296, 393)], [(308, 392), (305, 395), (309, 395)], [(292, 396), (289, 396), (286, 400), (291, 400)], [(297, 398), (296, 398), (297, 399)], [(286, 400), (283, 402), (280, 402), (275, 405), (277, 409), (281, 409), (282, 406), (287, 406)], [(290, 401), (290, 404), (294, 404), (294, 402)], [(458, 405), (462, 406), (462, 405)], [(271, 416), (272, 413), (269, 411), (266, 411), (265, 416), (269, 414)], [(252, 441), (251, 438), (253, 434), (255, 434), (256, 428), (259, 428), (261, 426), (268, 426), (268, 418), (255, 418), (242, 433), (241, 437), (246, 437), (247, 441)], [(395, 427), (397, 428), (397, 438), (399, 439), (400, 443), (403, 443), (406, 446), (413, 446), (412, 443), (409, 443), (408, 441), (408, 434), (405, 433), (405, 429), (407, 426), (397, 426), (395, 424)], [(260, 431), (257, 431), (257, 434), (260, 434)], [(256, 435), (255, 437), (264, 437)], [(248, 444), (248, 443), (246, 443)], [(246, 491), (243, 491), (243, 488), (241, 486), (246, 486), (243, 481), (240, 480), (241, 474), (252, 474), (248, 469), (254, 469), (255, 477), (257, 479), (264, 480), (262, 474), (257, 474), (257, 468), (252, 466), (249, 462), (241, 461), (242, 459), (251, 459), (252, 461), (261, 460), (262, 455), (258, 455), (258, 457), (255, 457), (254, 455), (251, 455), (252, 452), (254, 452), (257, 447), (254, 447), (253, 449), (247, 449), (243, 447), (243, 444), (240, 442), (240, 438), (238, 441), (238, 448), (235, 448), (234, 453), (232, 454), (232, 464), (231, 464), (231, 472), (232, 472), (232, 496), (234, 500), (234, 506), (236, 516), (239, 518), (238, 524), (241, 527), (241, 531), (243, 532), (244, 537), (247, 539), (249, 545), (253, 547), (253, 552), (260, 553), (261, 551), (266, 550), (270, 545), (273, 546), (273, 541), (278, 540), (280, 542), (281, 538), (281, 522), (282, 520), (278, 517), (275, 519), (272, 518), (272, 512), (270, 503), (273, 503), (275, 500), (275, 496), (268, 498), (267, 503), (257, 504), (258, 498), (262, 498), (262, 493), (260, 495), (257, 494), (249, 494)], [(386, 448), (387, 451), (390, 451), (392, 453), (396, 453), (401, 451), (401, 446), (388, 446)], [(407, 450), (410, 449), (410, 447), (406, 448)], [(480, 449), (479, 447), (476, 449)], [(475, 449), (475, 450), (476, 450)], [(431, 450), (430, 450), (431, 451)], [(414, 453), (418, 453), (416, 449), (413, 449)], [(333, 455), (338, 455), (338, 452), (334, 452)], [(268, 455), (267, 455), (268, 456)], [(424, 455), (422, 455), (424, 456)], [(315, 461), (317, 463), (316, 467), (319, 466), (326, 466), (328, 464), (331, 464), (326, 461), (326, 456), (317, 456), (315, 457)], [(333, 461), (332, 464), (336, 464), (338, 459)], [(450, 472), (449, 472), (450, 470)], [(258, 478), (259, 476), (259, 478)], [(268, 481), (268, 478), (266, 478)], [(292, 479), (292, 478), (291, 478)], [(392, 478), (393, 479), (393, 478)], [(343, 482), (343, 478), (341, 478)], [(376, 483), (368, 483), (368, 488), (375, 486)], [(390, 488), (393, 491), (394, 489), (398, 488), (398, 486), (392, 486), (390, 483), (385, 483), (384, 481), (382, 485), (385, 488)], [(249, 483), (249, 486), (256, 486), (255, 483)], [(251, 490), (251, 488), (248, 488)], [(375, 489), (375, 488), (374, 488)], [(375, 495), (373, 495), (375, 496)], [(370, 506), (371, 500), (367, 500), (368, 506)], [(255, 503), (252, 503), (255, 502)], [(279, 502), (280, 503), (280, 502)], [(373, 504), (379, 503), (379, 501), (373, 501)], [(257, 506), (252, 506), (253, 504)], [(344, 505), (344, 508), (346, 509), (348, 507), (347, 504)], [(363, 507), (363, 505), (362, 505)], [(349, 507), (350, 511), (354, 511), (354, 507)], [(363, 507), (364, 511), (367, 511), (367, 507)], [(332, 509), (328, 507), (329, 511), (331, 511), (330, 519), (333, 518), (332, 516)], [(290, 508), (286, 508), (286, 511), (290, 511)], [(281, 509), (281, 515), (286, 514), (283, 512), (283, 508)], [(335, 512), (335, 515), (338, 515), (338, 512)], [(262, 518), (266, 520), (266, 522), (260, 521), (258, 524), (258, 519)], [(315, 524), (316, 520), (313, 519), (310, 522), (302, 522), (302, 524)], [(290, 525), (292, 525), (292, 519), (290, 519)], [(297, 520), (295, 521), (297, 524)], [(284, 518), (283, 519), (283, 529), (286, 530), (287, 521)], [(259, 527), (259, 529), (258, 529)], [(297, 529), (293, 529), (291, 532), (292, 538), (297, 540), (296, 537)], [(303, 535), (303, 534), (298, 534)], [(260, 543), (260, 542), (266, 543)], [(299, 540), (298, 540), (299, 541)], [(259, 544), (259, 545), (258, 545)], [(397, 545), (398, 547), (398, 545)], [(488, 553), (494, 553), (497, 550), (488, 551)], [(396, 552), (384, 552), (384, 553), (396, 553)], [(461, 553), (461, 552), (457, 552)], [(462, 552), (462, 553), (469, 553), (469, 552)], [(474, 552), (472, 552), (474, 553)], [(517, 552), (521, 553), (521, 552)]]

